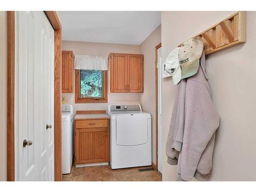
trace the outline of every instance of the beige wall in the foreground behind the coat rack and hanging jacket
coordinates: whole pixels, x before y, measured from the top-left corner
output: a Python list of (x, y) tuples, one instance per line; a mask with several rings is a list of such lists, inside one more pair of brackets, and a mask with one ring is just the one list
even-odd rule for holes
[[(162, 56), (233, 12), (162, 12)], [(247, 42), (206, 57), (211, 97), (221, 116), (210, 181), (256, 180), (256, 12), (247, 12)], [(176, 92), (163, 80), (163, 181), (176, 180), (165, 143)]]

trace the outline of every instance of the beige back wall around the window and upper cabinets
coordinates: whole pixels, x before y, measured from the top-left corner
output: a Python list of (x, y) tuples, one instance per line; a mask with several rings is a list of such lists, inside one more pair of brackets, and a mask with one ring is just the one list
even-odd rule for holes
[[(62, 50), (71, 50), (74, 54), (108, 56), (109, 53), (139, 54), (139, 46), (123, 44), (103, 44), (98, 42), (62, 41)], [(74, 82), (75, 83), (75, 82)], [(109, 104), (140, 103), (140, 93), (109, 93), (108, 103), (75, 103), (74, 93), (62, 93), (67, 104), (77, 110), (107, 110)]]

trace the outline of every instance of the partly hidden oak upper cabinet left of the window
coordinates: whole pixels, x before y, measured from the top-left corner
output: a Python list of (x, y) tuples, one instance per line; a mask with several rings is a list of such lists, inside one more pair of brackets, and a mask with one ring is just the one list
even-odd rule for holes
[(62, 51), (62, 93), (73, 93), (73, 51)]

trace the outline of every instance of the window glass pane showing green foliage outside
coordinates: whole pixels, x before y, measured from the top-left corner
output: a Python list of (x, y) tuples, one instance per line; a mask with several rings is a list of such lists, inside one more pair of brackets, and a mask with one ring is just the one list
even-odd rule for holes
[(80, 97), (102, 97), (102, 71), (80, 70)]

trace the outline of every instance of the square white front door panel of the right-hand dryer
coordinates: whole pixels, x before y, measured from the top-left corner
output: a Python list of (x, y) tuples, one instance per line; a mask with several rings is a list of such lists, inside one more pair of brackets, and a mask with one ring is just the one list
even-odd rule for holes
[(133, 146), (148, 141), (147, 115), (143, 113), (116, 116), (116, 144)]

